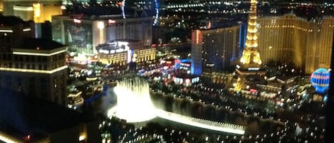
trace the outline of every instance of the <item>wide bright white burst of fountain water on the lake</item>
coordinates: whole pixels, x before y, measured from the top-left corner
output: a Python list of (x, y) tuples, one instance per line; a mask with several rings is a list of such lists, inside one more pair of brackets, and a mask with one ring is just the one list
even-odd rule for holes
[(117, 104), (108, 110), (108, 117), (116, 116), (127, 122), (145, 122), (157, 117), (150, 99), (150, 87), (141, 78), (125, 78), (114, 88)]

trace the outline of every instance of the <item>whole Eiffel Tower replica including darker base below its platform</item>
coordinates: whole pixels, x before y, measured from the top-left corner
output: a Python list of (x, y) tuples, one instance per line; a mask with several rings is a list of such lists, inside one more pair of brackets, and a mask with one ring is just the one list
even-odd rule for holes
[(245, 87), (249, 87), (249, 85), (254, 87), (266, 74), (266, 71), (261, 68), (262, 61), (258, 51), (256, 4), (256, 0), (251, 0), (245, 48), (240, 60), (236, 64), (235, 73), (238, 78), (234, 85), (235, 91), (243, 90)]

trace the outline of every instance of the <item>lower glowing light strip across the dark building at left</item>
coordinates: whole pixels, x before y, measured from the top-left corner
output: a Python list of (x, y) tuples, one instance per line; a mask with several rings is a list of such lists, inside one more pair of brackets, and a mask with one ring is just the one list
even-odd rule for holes
[(0, 70), (4, 71), (13, 71), (13, 72), (21, 72), (21, 73), (44, 73), (44, 74), (52, 74), (58, 71), (64, 70), (68, 68), (68, 65), (63, 65), (60, 68), (55, 68), (53, 70), (33, 70), (33, 69), (24, 69), (24, 68), (0, 68)]

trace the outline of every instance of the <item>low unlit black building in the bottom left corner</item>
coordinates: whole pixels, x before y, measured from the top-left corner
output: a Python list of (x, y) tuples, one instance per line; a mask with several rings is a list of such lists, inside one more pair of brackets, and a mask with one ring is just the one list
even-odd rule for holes
[(0, 136), (11, 141), (81, 143), (100, 140), (98, 120), (53, 102), (1, 88), (0, 107)]

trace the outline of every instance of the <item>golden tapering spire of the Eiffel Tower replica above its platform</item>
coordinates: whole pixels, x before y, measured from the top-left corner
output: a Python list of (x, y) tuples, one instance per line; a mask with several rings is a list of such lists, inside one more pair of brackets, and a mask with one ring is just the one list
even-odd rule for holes
[(248, 28), (245, 48), (240, 58), (242, 65), (259, 66), (261, 65), (260, 54), (258, 51), (258, 33), (256, 28), (256, 0), (251, 0), (251, 9), (248, 19)]

